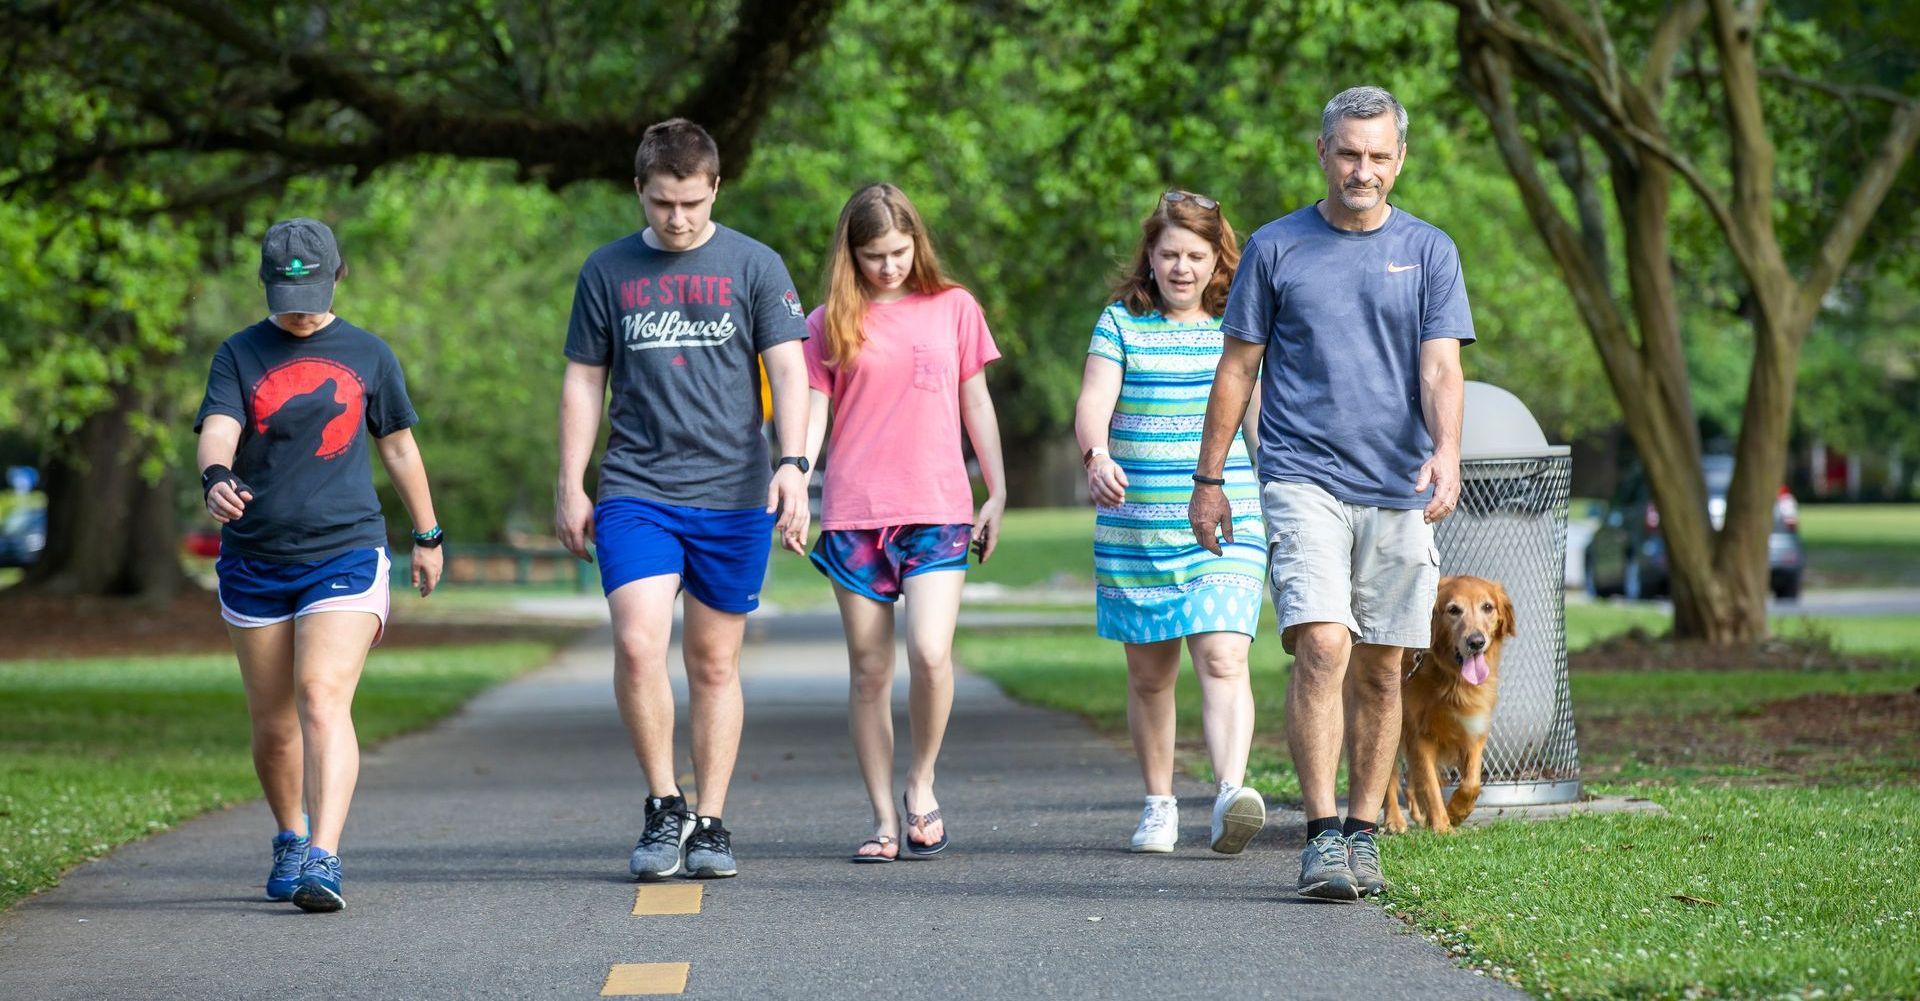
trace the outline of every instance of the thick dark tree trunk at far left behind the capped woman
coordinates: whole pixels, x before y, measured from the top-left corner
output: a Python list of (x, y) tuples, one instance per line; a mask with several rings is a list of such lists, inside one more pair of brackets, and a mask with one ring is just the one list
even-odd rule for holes
[(152, 402), (127, 386), (117, 396), (48, 463), (46, 549), (19, 582), (23, 594), (165, 601), (194, 586), (180, 567), (173, 475), (140, 475), (148, 446), (132, 415)]

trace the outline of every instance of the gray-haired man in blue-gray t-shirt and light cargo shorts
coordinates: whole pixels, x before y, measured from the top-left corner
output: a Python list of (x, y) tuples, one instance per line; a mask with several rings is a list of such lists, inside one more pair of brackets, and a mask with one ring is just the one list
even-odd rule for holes
[[(1317, 148), (1327, 198), (1256, 231), (1233, 277), (1188, 515), (1208, 549), (1233, 538), (1221, 463), (1263, 378), (1261, 509), (1281, 644), (1296, 657), (1286, 745), (1308, 815), (1300, 893), (1357, 899), (1386, 888), (1373, 820), (1400, 742), (1402, 649), (1428, 640), (1432, 523), (1459, 501), (1473, 313), (1453, 240), (1386, 202), (1405, 108), (1379, 86), (1344, 90)], [(1342, 713), (1348, 801), (1373, 805), (1346, 824)]]

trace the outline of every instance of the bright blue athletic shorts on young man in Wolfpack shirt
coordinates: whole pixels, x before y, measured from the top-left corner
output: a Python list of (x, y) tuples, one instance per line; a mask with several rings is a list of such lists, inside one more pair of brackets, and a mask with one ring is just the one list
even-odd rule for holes
[(680, 574), (680, 586), (703, 605), (753, 611), (774, 549), (774, 515), (607, 498), (593, 507), (593, 548), (607, 594), (647, 576)]

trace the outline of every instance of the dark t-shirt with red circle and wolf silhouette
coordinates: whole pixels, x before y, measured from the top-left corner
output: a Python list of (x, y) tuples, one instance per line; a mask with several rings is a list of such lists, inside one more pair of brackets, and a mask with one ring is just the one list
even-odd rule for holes
[(386, 546), (367, 436), (419, 423), (394, 350), (334, 317), (311, 336), (263, 319), (213, 352), (194, 419), (240, 421), (232, 471), (253, 492), (221, 551), (278, 563)]

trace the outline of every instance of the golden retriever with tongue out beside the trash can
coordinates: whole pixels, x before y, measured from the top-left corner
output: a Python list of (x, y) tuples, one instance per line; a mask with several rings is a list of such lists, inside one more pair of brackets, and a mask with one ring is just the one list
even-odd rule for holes
[[(1500, 647), (1513, 636), (1507, 588), (1478, 576), (1448, 576), (1434, 598), (1432, 640), (1400, 661), (1400, 753), (1407, 769), (1413, 822), (1450, 832), (1480, 799), (1480, 755), (1500, 699)], [(1440, 801), (1440, 769), (1459, 770), (1459, 788)], [(1407, 830), (1400, 786), (1386, 786), (1386, 830)]]

